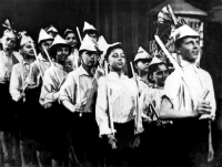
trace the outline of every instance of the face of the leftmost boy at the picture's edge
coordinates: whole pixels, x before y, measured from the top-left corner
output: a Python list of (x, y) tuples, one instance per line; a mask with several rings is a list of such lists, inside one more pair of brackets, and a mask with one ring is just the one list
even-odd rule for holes
[(3, 50), (11, 51), (16, 46), (16, 36), (4, 34), (1, 39), (1, 43), (2, 43)]

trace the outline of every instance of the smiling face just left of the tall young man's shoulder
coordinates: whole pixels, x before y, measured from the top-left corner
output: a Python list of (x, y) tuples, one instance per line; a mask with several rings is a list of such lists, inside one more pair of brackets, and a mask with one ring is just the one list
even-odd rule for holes
[(168, 71), (165, 64), (160, 64), (158, 66), (157, 71), (153, 72), (152, 77), (157, 85), (163, 87), (168, 75), (169, 75), (169, 71)]

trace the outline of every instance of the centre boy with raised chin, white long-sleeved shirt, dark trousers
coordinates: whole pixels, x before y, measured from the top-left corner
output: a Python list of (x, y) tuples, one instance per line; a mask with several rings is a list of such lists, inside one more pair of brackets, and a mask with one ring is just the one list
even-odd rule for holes
[(108, 166), (121, 166), (125, 158), (129, 158), (128, 165), (132, 165), (137, 161), (132, 148), (138, 147), (138, 135), (143, 132), (142, 122), (137, 122), (135, 118), (137, 84), (123, 73), (127, 61), (120, 42), (109, 44), (104, 59), (110, 72), (98, 81), (95, 108), (100, 137), (104, 143), (103, 156)]

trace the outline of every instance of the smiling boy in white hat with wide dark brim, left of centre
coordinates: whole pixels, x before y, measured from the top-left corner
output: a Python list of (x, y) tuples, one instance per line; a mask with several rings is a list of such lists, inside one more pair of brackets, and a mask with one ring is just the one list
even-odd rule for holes
[[(56, 167), (62, 166), (68, 157), (65, 113), (61, 112), (63, 108), (58, 104), (58, 98), (60, 87), (68, 75), (65, 61), (71, 53), (71, 45), (60, 35), (57, 35), (51, 45), (50, 53), (54, 62), (44, 73), (40, 104), (46, 108), (44, 117), (41, 119), (42, 124), (46, 125), (44, 129), (42, 129), (44, 131), (42, 139), (49, 146), (52, 167)], [(59, 124), (60, 122), (62, 124)]]

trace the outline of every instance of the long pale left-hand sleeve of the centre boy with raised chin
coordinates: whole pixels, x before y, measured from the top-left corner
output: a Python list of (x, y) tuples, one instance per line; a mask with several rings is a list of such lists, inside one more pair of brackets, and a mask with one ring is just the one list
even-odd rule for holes
[(108, 90), (105, 77), (100, 77), (98, 81), (98, 97), (95, 105), (95, 119), (100, 129), (100, 136), (111, 134), (109, 127), (109, 116), (108, 116)]

